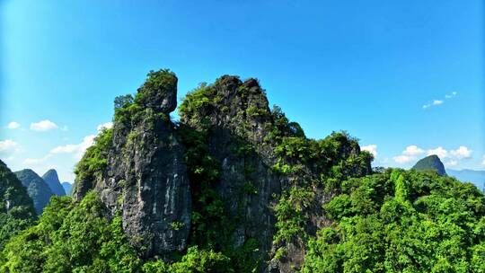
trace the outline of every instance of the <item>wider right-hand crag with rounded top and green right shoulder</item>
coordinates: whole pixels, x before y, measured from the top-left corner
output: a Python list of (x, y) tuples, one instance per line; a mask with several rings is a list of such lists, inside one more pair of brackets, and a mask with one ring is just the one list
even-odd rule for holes
[[(207, 153), (219, 171), (212, 187), (232, 228), (225, 230), (226, 240), (215, 241), (235, 248), (258, 242), (254, 257), (264, 271), (297, 269), (304, 260), (304, 240), (330, 224), (322, 204), (332, 196), (324, 191), (332, 166), (343, 165), (340, 179), (371, 172), (370, 158), (359, 157), (357, 141), (343, 134), (321, 142), (307, 139), (278, 108), (269, 110), (256, 79), (242, 82), (225, 75), (201, 85), (187, 95), (180, 112), (182, 125), (207, 134)], [(325, 154), (326, 145), (335, 154)], [(278, 250), (285, 254), (275, 259)]]

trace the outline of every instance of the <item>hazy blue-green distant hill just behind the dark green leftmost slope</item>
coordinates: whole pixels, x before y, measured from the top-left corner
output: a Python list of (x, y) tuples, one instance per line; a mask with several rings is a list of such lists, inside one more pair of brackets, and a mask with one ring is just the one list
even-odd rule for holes
[(24, 169), (14, 173), (22, 181), (23, 187), (27, 189), (29, 196), (33, 200), (37, 214), (42, 214), (42, 209), (47, 206), (48, 200), (53, 195), (48, 184), (31, 169)]

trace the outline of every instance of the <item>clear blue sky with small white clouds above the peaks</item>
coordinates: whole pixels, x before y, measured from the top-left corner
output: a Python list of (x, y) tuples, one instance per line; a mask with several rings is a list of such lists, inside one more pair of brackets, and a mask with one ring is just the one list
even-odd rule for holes
[(375, 165), (438, 154), (483, 170), (483, 10), (480, 0), (0, 0), (0, 159), (73, 181), (114, 97), (170, 68), (180, 98), (220, 75), (257, 77), (308, 137), (347, 130)]

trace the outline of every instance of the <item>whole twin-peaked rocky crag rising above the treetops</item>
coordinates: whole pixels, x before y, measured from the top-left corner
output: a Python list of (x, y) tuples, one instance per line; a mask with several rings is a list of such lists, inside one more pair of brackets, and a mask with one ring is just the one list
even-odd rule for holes
[(190, 92), (173, 124), (176, 84), (153, 72), (115, 100), (113, 128), (77, 165), (74, 198), (98, 191), (145, 257), (170, 260), (190, 243), (224, 252), (238, 272), (298, 269), (306, 240), (330, 225), (332, 185), (370, 173), (372, 157), (345, 133), (304, 137), (257, 80), (237, 76)]

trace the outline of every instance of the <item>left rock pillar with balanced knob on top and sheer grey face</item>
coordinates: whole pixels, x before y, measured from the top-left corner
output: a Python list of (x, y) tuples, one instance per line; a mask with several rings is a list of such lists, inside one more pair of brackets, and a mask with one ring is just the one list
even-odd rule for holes
[(176, 84), (171, 73), (151, 75), (134, 101), (125, 97), (112, 132), (102, 133), (106, 167), (75, 181), (74, 198), (83, 198), (89, 189), (100, 192), (111, 216), (119, 211), (130, 242), (146, 257), (170, 259), (186, 248), (190, 230), (183, 148), (168, 118), (176, 107)]

